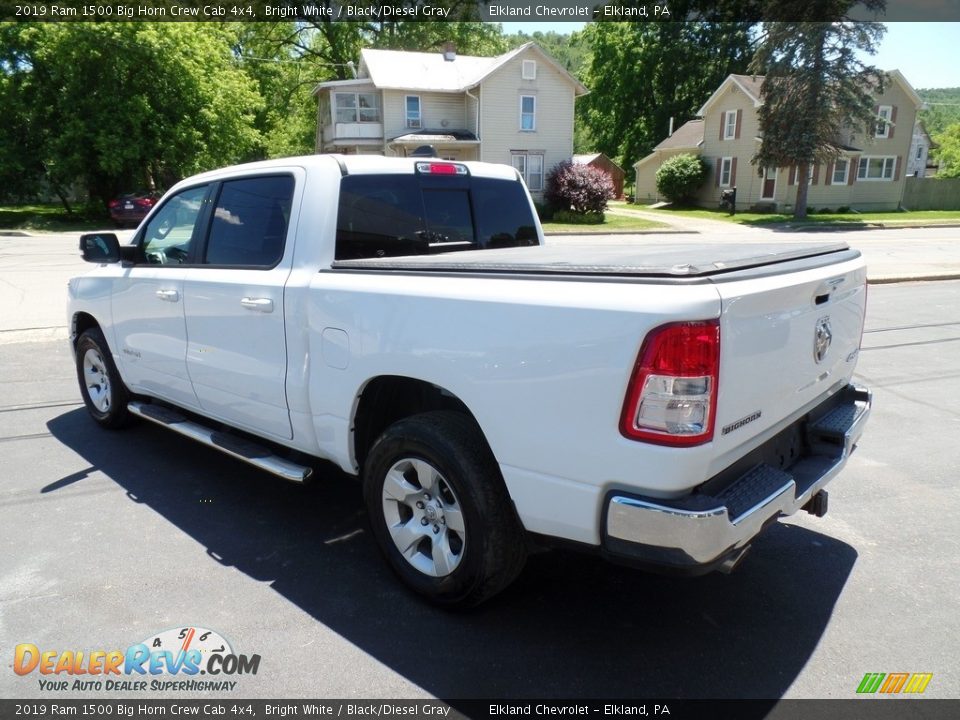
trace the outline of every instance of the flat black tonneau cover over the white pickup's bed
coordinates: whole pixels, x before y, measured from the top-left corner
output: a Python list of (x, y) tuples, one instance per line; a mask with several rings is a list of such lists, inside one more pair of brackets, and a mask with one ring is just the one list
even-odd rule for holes
[(846, 243), (676, 243), (656, 245), (547, 244), (508, 249), (439, 252), (433, 255), (337, 260), (336, 270), (603, 275), (705, 278), (811, 259), (810, 266), (856, 258)]

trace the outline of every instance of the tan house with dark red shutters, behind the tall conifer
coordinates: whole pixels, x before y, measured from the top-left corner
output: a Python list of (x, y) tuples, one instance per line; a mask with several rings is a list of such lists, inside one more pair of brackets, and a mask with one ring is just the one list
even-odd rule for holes
[[(655, 148), (636, 164), (637, 201), (651, 201), (648, 178), (676, 150), (672, 154), (691, 152), (709, 165), (710, 178), (697, 195), (698, 204), (705, 207), (716, 207), (724, 190), (736, 188), (739, 207), (789, 212), (797, 183), (805, 180), (810, 208), (896, 209), (903, 198), (913, 127), (922, 101), (900, 71), (890, 71), (887, 77), (884, 92), (876, 98), (872, 132), (865, 137), (848, 133), (839, 140), (840, 156), (814, 165), (804, 179), (797, 176), (796, 167), (757, 168), (750, 163), (762, 140), (757, 110), (762, 103), (763, 78), (729, 75), (700, 108), (701, 120), (687, 123), (675, 133), (687, 133), (682, 142), (685, 147), (671, 149), (672, 138), (668, 138), (666, 151)], [(696, 137), (688, 137), (694, 132)], [(641, 177), (645, 195), (641, 194)], [(655, 192), (654, 185), (654, 197)]]

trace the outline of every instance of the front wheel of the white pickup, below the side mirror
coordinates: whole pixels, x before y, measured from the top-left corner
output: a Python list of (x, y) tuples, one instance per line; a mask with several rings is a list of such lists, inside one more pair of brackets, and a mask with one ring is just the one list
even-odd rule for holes
[(110, 355), (110, 348), (99, 328), (85, 331), (77, 340), (77, 380), (80, 395), (97, 424), (118, 429), (130, 424), (127, 410), (130, 393)]

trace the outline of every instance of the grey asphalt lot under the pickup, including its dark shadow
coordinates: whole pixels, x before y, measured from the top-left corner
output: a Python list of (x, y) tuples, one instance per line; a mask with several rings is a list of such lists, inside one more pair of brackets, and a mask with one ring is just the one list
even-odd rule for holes
[(338, 471), (301, 487), (154, 426), (102, 431), (64, 341), (0, 338), (0, 697), (107, 696), (41, 690), (16, 644), (190, 626), (261, 656), (248, 698), (853, 698), (867, 672), (960, 698), (960, 282), (869, 301), (875, 409), (825, 518), (772, 527), (729, 576), (538, 554), (459, 614), (390, 576)]

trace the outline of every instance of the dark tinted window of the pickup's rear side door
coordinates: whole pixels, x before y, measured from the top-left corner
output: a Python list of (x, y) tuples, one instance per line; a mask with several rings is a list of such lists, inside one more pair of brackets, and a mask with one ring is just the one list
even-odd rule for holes
[(223, 183), (210, 223), (206, 265), (272, 267), (283, 257), (293, 178), (244, 178)]

